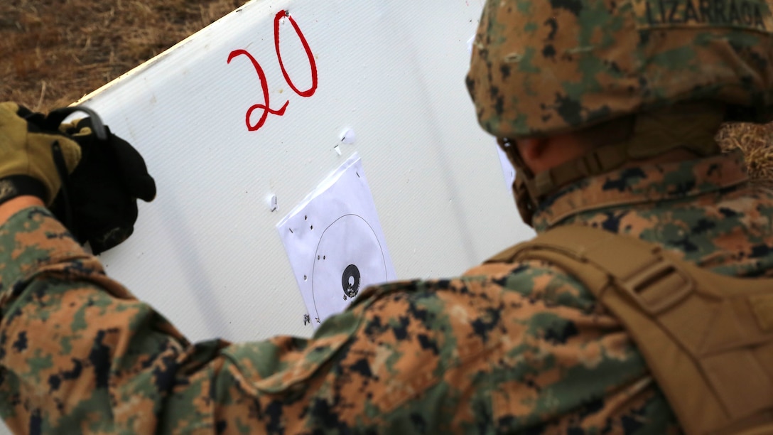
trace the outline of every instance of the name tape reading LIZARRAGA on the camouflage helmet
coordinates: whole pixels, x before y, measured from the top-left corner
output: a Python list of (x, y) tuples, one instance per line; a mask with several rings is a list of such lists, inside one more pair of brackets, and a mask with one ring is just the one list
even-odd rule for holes
[(764, 0), (635, 0), (637, 27), (734, 27), (773, 32)]

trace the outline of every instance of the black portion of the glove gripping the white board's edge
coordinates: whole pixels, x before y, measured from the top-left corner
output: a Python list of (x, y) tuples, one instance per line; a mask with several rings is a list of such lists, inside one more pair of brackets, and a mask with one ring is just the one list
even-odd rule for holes
[(60, 127), (77, 142), (82, 156), (51, 207), (64, 222), (70, 208), (70, 232), (81, 243), (88, 241), (94, 254), (126, 240), (137, 221), (137, 199), (155, 197), (155, 181), (145, 160), (128, 142), (104, 128), (105, 140), (93, 131), (91, 118)]

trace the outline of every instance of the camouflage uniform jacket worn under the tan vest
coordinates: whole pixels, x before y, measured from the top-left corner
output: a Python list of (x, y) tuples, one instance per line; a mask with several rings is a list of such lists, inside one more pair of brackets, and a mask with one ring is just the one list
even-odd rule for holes
[[(741, 161), (583, 180), (536, 228), (593, 225), (770, 276), (773, 193)], [(371, 288), (308, 340), (189, 344), (46, 209), (0, 227), (0, 249), (0, 409), (17, 432), (679, 432), (626, 331), (543, 262)]]

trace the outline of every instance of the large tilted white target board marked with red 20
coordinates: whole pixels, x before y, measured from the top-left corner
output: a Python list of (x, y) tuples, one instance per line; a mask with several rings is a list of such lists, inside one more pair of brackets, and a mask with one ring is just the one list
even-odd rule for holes
[[(465, 89), (481, 10), (255, 0), (88, 95), (158, 185), (135, 234), (100, 255), (107, 272), (192, 340), (309, 336), (277, 225), (355, 153), (382, 233), (356, 214), (320, 222), (315, 291), (356, 296), (378, 252), (397, 279), (456, 276), (529, 237)], [(342, 243), (371, 256), (327, 261)]]

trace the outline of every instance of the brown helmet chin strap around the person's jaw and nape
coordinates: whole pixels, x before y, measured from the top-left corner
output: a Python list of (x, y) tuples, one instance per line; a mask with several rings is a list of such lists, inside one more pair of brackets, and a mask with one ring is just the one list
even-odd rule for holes
[(720, 153), (720, 146), (714, 136), (724, 122), (724, 117), (723, 104), (705, 101), (673, 104), (667, 108), (628, 115), (611, 121), (631, 123), (627, 138), (604, 143), (603, 125), (601, 128), (593, 128), (588, 140), (599, 142), (596, 148), (584, 156), (540, 173), (531, 173), (510, 139), (500, 138), (498, 142), (513, 166), (516, 166), (513, 194), (523, 221), (531, 225), (534, 212), (543, 200), (569, 183), (608, 173), (626, 163), (651, 159), (675, 149), (686, 149), (698, 157)]

